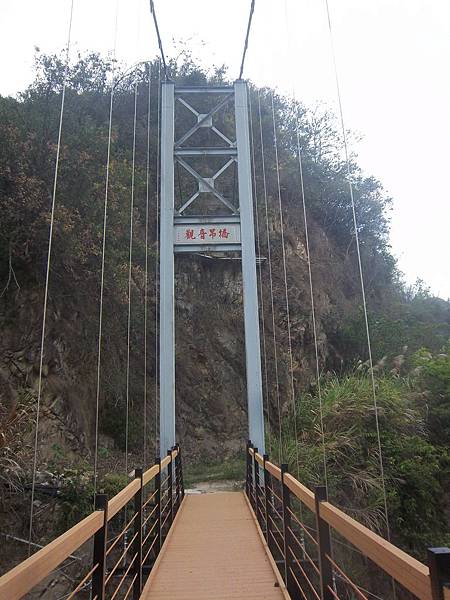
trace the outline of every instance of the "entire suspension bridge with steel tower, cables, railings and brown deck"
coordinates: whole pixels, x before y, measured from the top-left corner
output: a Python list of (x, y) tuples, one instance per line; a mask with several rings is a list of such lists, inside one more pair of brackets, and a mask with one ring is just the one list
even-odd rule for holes
[[(255, 240), (254, 195), (252, 180), (254, 171), (254, 140), (252, 121), (249, 119), (247, 83), (242, 79), (245, 56), (251, 31), (255, 1), (250, 4), (244, 51), (239, 78), (233, 85), (180, 86), (172, 81), (163, 50), (162, 39), (153, 1), (150, 2), (156, 35), (161, 53), (163, 80), (160, 93), (160, 347), (159, 347), (159, 456), (146, 468), (137, 468), (131, 482), (117, 495), (108, 498), (95, 494), (94, 510), (71, 529), (54, 539), (0, 578), (0, 598), (15, 600), (25, 598), (33, 590), (39, 597), (53, 598), (46, 587), (52, 573), (63, 569), (67, 562), (82, 549), (91, 557), (90, 564), (80, 560), (77, 581), (64, 598), (90, 598), (105, 600), (114, 598), (142, 599), (318, 599), (344, 600), (358, 598), (370, 600), (381, 596), (379, 590), (365, 589), (348, 568), (346, 552), (356, 553), (369, 569), (377, 571), (377, 577), (388, 582), (392, 598), (418, 598), (420, 600), (450, 600), (450, 550), (430, 548), (428, 564), (425, 565), (408, 555), (390, 541), (386, 489), (383, 473), (382, 448), (377, 419), (376, 391), (373, 383), (375, 418), (379, 445), (380, 477), (385, 502), (386, 538), (371, 531), (328, 500), (326, 457), (324, 456), (324, 485), (311, 490), (289, 472), (287, 464), (272, 462), (265, 450), (265, 423), (263, 407), (262, 358), (265, 358), (265, 335), (260, 340), (258, 282), (259, 238)], [(73, 1), (72, 9), (73, 11)], [(71, 13), (72, 19), (72, 13)], [(69, 59), (70, 29), (67, 44)], [(331, 23), (330, 23), (331, 33)], [(339, 82), (337, 81), (339, 84)], [(42, 393), (42, 370), (48, 280), (51, 262), (52, 230), (57, 195), (58, 167), (63, 130), (64, 96), (62, 91), (56, 168), (52, 198), (50, 243), (47, 262), (47, 278), (44, 296), (44, 317), (40, 355), (40, 376), (35, 435), (35, 454), (30, 514), (30, 547), (33, 532), (33, 506), (35, 494), (37, 446), (39, 442), (39, 405)], [(108, 161), (106, 165), (105, 213), (103, 227), (103, 256), (100, 293), (100, 335), (98, 347), (98, 379), (96, 397), (96, 447), (95, 484), (97, 483), (98, 415), (100, 398), (100, 366), (102, 352), (102, 307), (105, 269), (105, 237), (108, 208), (108, 178), (112, 132), (112, 107), (115, 82), (111, 87), (109, 120)], [(339, 95), (340, 97), (340, 95)], [(199, 108), (201, 100), (204, 107)], [(206, 100), (205, 100), (206, 99)], [(130, 271), (133, 225), (134, 158), (136, 144), (136, 102), (133, 132), (133, 180), (130, 214)], [(182, 107), (193, 118), (192, 126), (177, 131), (177, 110)], [(345, 140), (347, 164), (349, 156)], [(229, 120), (215, 119), (221, 111), (228, 110)], [(258, 103), (261, 124), (261, 104)], [(293, 381), (291, 320), (288, 301), (285, 244), (281, 209), (280, 169), (277, 150), (275, 110), (272, 95), (273, 137), (277, 172), (277, 189), (280, 209), (283, 249), (283, 271), (289, 339), (291, 396), (295, 410)], [(225, 128), (225, 123), (228, 123)], [(301, 146), (297, 135), (297, 158), (304, 199)], [(264, 140), (261, 127), (262, 164), (264, 169)], [(212, 176), (201, 175), (199, 163), (219, 159), (222, 162)], [(195, 189), (189, 197), (175, 200), (175, 168), (181, 167), (194, 181)], [(235, 169), (238, 181), (237, 198), (226, 194), (218, 179), (229, 169)], [(264, 180), (265, 211), (267, 217), (267, 193)], [(205, 194), (209, 206), (205, 208)], [(356, 223), (353, 190), (349, 178), (354, 220), (354, 232), (358, 248), (358, 264), (361, 277), (362, 297), (366, 318), (369, 359), (373, 377), (370, 338), (365, 305), (364, 279), (359, 253), (358, 227)], [(195, 207), (195, 208), (194, 208)], [(147, 211), (148, 211), (147, 190)], [(194, 212), (193, 212), (194, 208)], [(303, 202), (305, 230), (307, 233), (306, 203)], [(256, 216), (257, 216), (256, 212)], [(148, 216), (148, 215), (147, 215)], [(148, 222), (148, 219), (147, 219)], [(266, 219), (267, 226), (267, 219)], [(258, 231), (258, 224), (256, 227)], [(269, 235), (268, 235), (269, 239)], [(148, 230), (146, 230), (146, 245)], [(256, 242), (256, 243), (255, 243)], [(309, 260), (312, 318), (318, 367), (316, 328), (314, 321), (314, 295)], [(272, 298), (270, 245), (268, 265)], [(248, 432), (251, 441), (245, 449), (245, 489), (236, 492), (210, 494), (188, 493), (183, 478), (182, 449), (176, 443), (175, 409), (175, 282), (174, 261), (177, 254), (236, 253), (240, 256), (243, 278), (245, 357), (247, 373)], [(261, 265), (261, 261), (259, 261)], [(146, 275), (147, 275), (146, 255)], [(130, 288), (129, 288), (130, 295)], [(262, 299), (262, 297), (261, 297)], [(147, 307), (145, 311), (147, 318)], [(272, 328), (275, 335), (275, 327)], [(276, 340), (274, 340), (276, 342)], [(276, 345), (275, 345), (276, 347)], [(128, 361), (127, 361), (127, 427), (130, 368), (130, 308), (128, 314)], [(263, 357), (261, 357), (261, 348)], [(145, 349), (147, 352), (147, 348)], [(275, 363), (276, 364), (276, 363)], [(267, 387), (267, 386), (266, 386)], [(280, 403), (279, 389), (278, 408)], [(267, 409), (268, 411), (268, 409)], [(145, 418), (145, 416), (144, 416)], [(297, 419), (294, 419), (296, 426)], [(127, 430), (128, 431), (128, 430)], [(295, 435), (297, 437), (297, 431)], [(322, 431), (323, 435), (323, 431)], [(280, 431), (281, 438), (281, 431)], [(128, 444), (128, 438), (127, 438)], [(280, 439), (280, 447), (282, 440)], [(144, 451), (144, 456), (147, 452)], [(298, 473), (298, 455), (296, 471)], [(126, 460), (128, 452), (126, 448)], [(128, 464), (126, 465), (128, 473)], [(77, 556), (75, 555), (75, 559)], [(78, 559), (79, 560), (79, 559)], [(384, 589), (384, 588), (383, 588)]]

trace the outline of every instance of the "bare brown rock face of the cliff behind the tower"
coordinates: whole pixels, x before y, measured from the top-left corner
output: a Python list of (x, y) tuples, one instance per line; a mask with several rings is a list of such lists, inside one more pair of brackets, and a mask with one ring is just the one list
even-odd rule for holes
[[(287, 312), (279, 224), (271, 222), (275, 338), (282, 410), (291, 401)], [(310, 243), (317, 334), (321, 366), (336, 364), (328, 344), (327, 328), (348, 310), (357, 295), (354, 265), (339, 256), (314, 223)], [(314, 343), (307, 253), (300, 207), (291, 207), (285, 222), (288, 296), (295, 391), (309, 387), (315, 376)], [(265, 348), (269, 415), (277, 417), (275, 362), (269, 266), (266, 241), (261, 240)], [(131, 448), (142, 448), (143, 413), (143, 280), (134, 274), (132, 292), (132, 356), (130, 418), (136, 424)], [(154, 290), (154, 281), (149, 281)], [(50, 295), (43, 366), (39, 426), (40, 461), (56, 454), (67, 462), (81, 457), (92, 461), (95, 429), (98, 289)], [(86, 302), (89, 296), (89, 302)], [(239, 260), (191, 255), (176, 260), (176, 389), (177, 432), (191, 460), (234, 455), (247, 438), (245, 397), (242, 276)], [(155, 423), (155, 297), (149, 298), (147, 423), (149, 447)], [(7, 294), (2, 300), (0, 372), (2, 402), (12, 407), (26, 391), (37, 396), (42, 320), (42, 290), (36, 285)], [(100, 432), (102, 447), (113, 443), (106, 427), (105, 403), (120, 409), (125, 402), (126, 301), (105, 305)], [(31, 402), (33, 404), (33, 402)], [(266, 407), (267, 408), (267, 407)], [(124, 427), (124, 411), (114, 412), (114, 426)], [(123, 424), (120, 421), (123, 421)], [(23, 431), (25, 446), (33, 427)], [(106, 440), (106, 442), (105, 442)], [(152, 454), (150, 454), (152, 456)]]

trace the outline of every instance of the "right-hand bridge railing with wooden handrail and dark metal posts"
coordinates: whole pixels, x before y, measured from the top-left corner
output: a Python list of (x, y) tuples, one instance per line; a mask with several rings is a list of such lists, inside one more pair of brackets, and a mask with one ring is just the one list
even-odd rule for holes
[[(450, 549), (430, 548), (429, 566), (419, 562), (333, 506), (325, 487), (309, 490), (289, 474), (286, 464), (270, 462), (251, 442), (246, 494), (293, 600), (385, 597), (380, 596), (381, 587), (374, 595), (355, 582), (354, 564), (352, 568), (338, 546), (357, 552), (366, 570), (377, 565), (385, 574), (384, 593), (394, 598), (450, 600)], [(356, 574), (359, 580), (358, 569)], [(371, 580), (381, 585), (373, 573)]]

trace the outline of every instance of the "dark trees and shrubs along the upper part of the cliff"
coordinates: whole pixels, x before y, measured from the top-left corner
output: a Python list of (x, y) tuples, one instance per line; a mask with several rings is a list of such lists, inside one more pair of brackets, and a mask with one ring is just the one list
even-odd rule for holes
[[(149, 201), (156, 202), (157, 111), (150, 118), (150, 157), (147, 173), (147, 107), (158, 105), (158, 63), (141, 65), (127, 72), (120, 65), (98, 54), (79, 55), (67, 72), (63, 115), (59, 178), (52, 246), (50, 298), (71, 298), (74, 309), (82, 311), (85, 348), (96, 352), (97, 302), (100, 285), (105, 175), (109, 128), (110, 92), (115, 68), (112, 143), (108, 185), (106, 272), (104, 293), (105, 347), (103, 369), (109, 377), (102, 382), (102, 431), (111, 434), (124, 447), (126, 339), (128, 303), (128, 249), (133, 160), (134, 90), (138, 106), (135, 156), (135, 209), (132, 287), (133, 298), (142, 298), (145, 259), (145, 198), (147, 176)], [(170, 64), (172, 76), (183, 84), (228, 83), (223, 66), (206, 71), (182, 49)], [(17, 278), (19, 285), (41, 287), (45, 275), (48, 228), (58, 139), (64, 64), (60, 56), (37, 51), (35, 80), (17, 99), (0, 97), (0, 281), (8, 289)], [(150, 81), (149, 81), (150, 78)], [(149, 92), (150, 83), (150, 92)], [(148, 97), (150, 93), (150, 98)], [(256, 94), (256, 90), (254, 90)], [(271, 90), (261, 91), (262, 127), (267, 161), (273, 157)], [(253, 96), (255, 104), (255, 96)], [(274, 96), (279, 128), (279, 159), (283, 202), (293, 216), (301, 214), (296, 161), (297, 117), (304, 153), (305, 182), (312, 216), (338, 248), (355, 259), (351, 233), (352, 213), (347, 193), (346, 169), (342, 158), (342, 139), (334, 116), (319, 108), (308, 110), (301, 104)], [(253, 106), (253, 129), (259, 127)], [(186, 119), (189, 119), (188, 115)], [(190, 121), (186, 121), (190, 123)], [(224, 126), (229, 124), (224, 123)], [(226, 129), (225, 129), (226, 130)], [(256, 172), (261, 173), (260, 141), (255, 136)], [(385, 209), (389, 198), (380, 183), (362, 175), (352, 160), (352, 179), (359, 218), (363, 252), (372, 257), (391, 279), (392, 261), (387, 251), (388, 220)], [(260, 177), (260, 175), (258, 175)], [(259, 182), (261, 184), (261, 182)], [(269, 171), (267, 178), (269, 212), (275, 214), (277, 180)], [(151, 211), (149, 237), (156, 238), (156, 215)], [(274, 243), (278, 234), (274, 235)], [(154, 254), (150, 248), (150, 260)], [(9, 260), (10, 258), (10, 260)], [(378, 279), (377, 285), (385, 285)], [(149, 289), (154, 289), (153, 272)], [(86, 303), (85, 298), (91, 298)], [(80, 302), (77, 300), (80, 299)], [(152, 302), (152, 298), (150, 298)], [(129, 397), (135, 413), (141, 412), (143, 397), (143, 314), (133, 308), (131, 339), (132, 376)], [(153, 307), (150, 307), (152, 310)], [(137, 399), (137, 400), (134, 400)], [(130, 415), (130, 448), (142, 439), (141, 423)]]

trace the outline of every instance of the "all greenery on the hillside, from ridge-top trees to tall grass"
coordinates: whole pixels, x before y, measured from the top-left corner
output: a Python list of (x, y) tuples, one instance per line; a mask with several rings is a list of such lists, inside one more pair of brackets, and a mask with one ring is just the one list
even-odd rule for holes
[[(108, 186), (105, 351), (102, 363), (103, 373), (108, 373), (108, 377), (102, 382), (100, 429), (124, 448), (127, 396), (123, 373), (127, 361), (124, 340), (129, 300), (134, 89), (137, 85), (135, 231), (130, 300), (142, 298), (145, 287), (147, 178), (150, 182), (149, 201), (152, 207), (156, 205), (156, 110), (152, 111), (150, 118), (151, 161), (147, 170), (147, 107), (149, 101), (153, 107), (158, 105), (159, 67), (156, 61), (150, 68), (139, 66), (129, 73), (120, 65), (113, 64), (109, 58), (88, 54), (79, 56), (68, 69), (50, 299), (55, 305), (62, 299), (64, 306), (72, 301), (77, 310), (82, 312), (85, 328), (83, 343), (86, 346), (83, 351), (87, 356), (96, 356), (113, 68), (116, 80)], [(171, 61), (170, 70), (180, 84), (229, 83), (222, 66), (210, 72), (201, 69), (185, 50), (178, 60)], [(9, 298), (10, 284), (15, 278), (21, 285), (41, 288), (45, 277), (64, 65), (59, 56), (46, 56), (38, 52), (35, 73), (34, 82), (16, 99), (0, 97), (0, 288), (5, 289), (5, 303)], [(350, 365), (365, 359), (367, 347), (362, 311), (357, 313), (356, 318), (349, 318), (352, 312), (350, 308), (360, 303), (360, 290), (342, 134), (335, 116), (329, 111), (321, 107), (306, 108), (301, 103), (273, 95), (270, 89), (253, 88), (251, 107), (257, 190), (263, 189), (257, 95), (261, 99), (262, 139), (268, 166), (274, 164), (272, 97), (274, 101), (285, 227), (287, 234), (289, 231), (295, 232), (292, 234), (295, 238), (292, 247), (298, 245), (304, 236), (301, 229), (303, 199), (299, 193), (298, 132), (310, 225), (312, 230), (316, 228), (319, 232), (311, 241), (312, 249), (317, 253), (325, 252), (322, 244), (330, 243), (331, 250), (324, 262), (331, 264), (331, 268), (325, 267), (326, 275), (331, 277), (329, 285), (333, 292), (337, 287), (343, 290), (340, 308), (336, 302), (327, 315), (332, 324), (328, 327), (325, 324), (324, 327), (329, 346), (341, 357), (343, 367), (340, 379), (330, 376), (323, 381), (322, 387), (325, 453), (331, 496), (358, 519), (383, 531), (383, 495), (371, 382), (362, 368), (358, 372), (348, 372)], [(448, 465), (443, 458), (445, 454), (441, 444), (445, 443), (448, 447), (450, 439), (450, 352), (448, 346), (442, 353), (438, 351), (450, 335), (450, 305), (431, 297), (420, 283), (410, 289), (404, 286), (388, 241), (391, 199), (379, 181), (364, 175), (354, 156), (350, 162), (350, 178), (365, 265), (374, 358), (384, 360), (385, 356), (391, 359), (399, 353), (403, 355), (405, 346), (408, 346), (409, 354), (418, 351), (412, 359), (417, 369), (414, 374), (406, 377), (408, 363), (397, 368), (392, 376), (382, 368), (376, 379), (391, 524), (396, 539), (405, 547), (417, 551), (423, 547), (425, 539), (428, 540), (426, 536), (431, 536), (433, 543), (438, 543), (440, 531), (445, 530), (442, 497)], [(268, 168), (264, 184), (267, 185), (275, 258), (280, 253), (280, 228), (276, 217), (277, 183), (274, 169)], [(148, 226), (150, 239), (156, 239), (157, 215), (154, 210), (151, 211)], [(150, 248), (150, 253), (153, 257), (155, 248)], [(331, 259), (336, 263), (329, 262)], [(343, 271), (339, 285), (335, 285), (330, 271), (333, 270), (333, 264), (338, 263)], [(299, 281), (305, 270), (299, 275)], [(275, 291), (280, 281), (275, 269)], [(150, 273), (148, 289), (153, 290), (154, 283), (153, 273)], [(333, 304), (334, 298), (331, 296), (332, 292), (330, 304)], [(150, 302), (153, 301), (150, 298)], [(153, 308), (149, 307), (151, 310)], [(57, 313), (57, 310), (54, 312)], [(298, 318), (300, 320), (302, 315), (298, 315)], [(51, 319), (50, 314), (49, 323)], [(133, 319), (130, 355), (133, 368), (129, 389), (129, 398), (132, 399), (129, 415), (130, 448), (142, 439), (142, 423), (137, 415), (142, 414), (143, 371), (148, 368), (141, 356), (144, 327), (140, 308), (133, 309)], [(293, 331), (295, 329), (293, 327)], [(430, 352), (419, 350), (424, 345)], [(330, 363), (334, 362), (335, 358), (330, 358)], [(295, 441), (293, 438), (293, 416), (289, 415), (285, 423), (288, 432), (285, 449), (291, 464), (296, 463), (298, 451), (299, 476), (309, 485), (314, 485), (323, 480), (317, 393), (304, 394), (298, 402), (297, 414), (300, 439)], [(59, 453), (56, 447), (54, 451), (55, 455)], [(231, 461), (220, 469), (215, 464), (192, 468), (187, 479), (192, 482), (199, 478), (234, 478), (241, 477), (242, 473), (243, 465)], [(122, 483), (122, 480), (110, 476), (102, 485), (112, 494)], [(62, 487), (64, 527), (91, 510), (92, 493), (92, 478), (85, 470), (66, 472)]]

